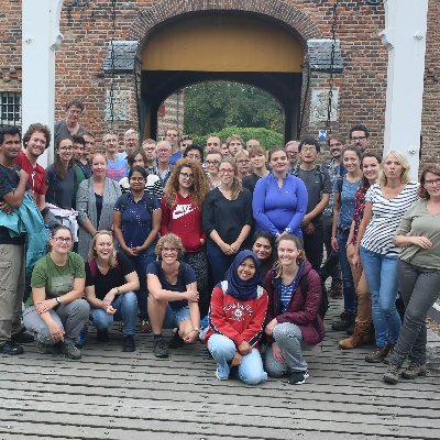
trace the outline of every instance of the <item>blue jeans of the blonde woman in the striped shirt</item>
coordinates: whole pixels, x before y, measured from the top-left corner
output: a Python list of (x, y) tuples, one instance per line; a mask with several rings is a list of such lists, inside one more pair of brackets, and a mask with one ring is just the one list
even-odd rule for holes
[(402, 326), (400, 317), (396, 309), (398, 256), (378, 254), (362, 246), (360, 254), (372, 296), (372, 316), (376, 332), (376, 345), (395, 344)]

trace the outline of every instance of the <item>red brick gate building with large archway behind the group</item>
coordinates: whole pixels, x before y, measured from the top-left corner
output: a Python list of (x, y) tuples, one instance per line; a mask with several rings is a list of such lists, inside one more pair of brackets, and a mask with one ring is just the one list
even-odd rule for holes
[[(268, 91), (273, 91), (274, 96), (278, 94), (279, 99), (288, 97), (284, 106), (292, 127), (286, 129), (286, 136), (298, 135), (299, 129), (300, 135), (317, 135), (319, 130), (324, 129), (327, 118), (324, 97), (329, 78), (332, 7), (333, 0), (116, 0), (113, 18), (112, 1), (65, 1), (61, 23), (64, 40), (56, 54), (56, 119), (63, 116), (63, 105), (67, 100), (81, 99), (86, 106), (82, 122), (100, 139), (111, 119), (109, 96), (113, 84), (113, 128), (122, 132), (138, 127), (140, 120), (143, 136), (155, 136), (162, 134), (156, 114), (164, 99), (190, 81), (244, 78), (264, 88), (264, 78), (268, 84), (272, 77), (279, 75), (284, 82), (278, 82), (283, 85), (273, 85)], [(0, 122), (3, 123), (18, 117), (8, 102), (19, 102), (21, 92), (20, 8), (20, 0), (0, 0)], [(439, 19), (440, 4), (430, 1), (422, 162), (439, 162)], [(220, 32), (219, 40), (215, 42), (217, 46), (212, 46), (211, 52), (209, 47), (201, 46), (204, 42), (208, 46), (211, 44), (206, 32), (207, 23), (218, 25)], [(249, 38), (238, 34), (235, 41), (228, 43), (232, 28), (224, 28), (228, 32), (221, 34), (222, 25), (245, 30)], [(372, 144), (376, 147), (383, 143), (385, 114), (387, 51), (378, 37), (383, 29), (382, 2), (339, 1), (332, 127), (334, 131), (345, 134), (352, 124), (365, 123), (372, 131)], [(277, 33), (278, 42), (283, 44), (268, 45), (270, 35)], [(265, 35), (265, 41), (258, 42), (258, 34)], [(224, 65), (224, 61), (218, 53), (222, 50), (222, 38), (226, 45), (229, 44), (231, 54), (227, 58), (231, 63), (226, 63), (224, 68), (220, 65)], [(253, 51), (252, 41), (256, 41), (254, 45), (261, 45), (255, 54), (262, 51), (260, 53), (264, 55), (254, 56), (246, 65), (246, 57), (240, 51)], [(263, 47), (265, 44), (267, 46)], [(193, 45), (207, 50), (209, 57), (197, 55), (198, 50), (191, 53)], [(283, 46), (289, 52), (283, 52)], [(180, 47), (183, 59), (173, 52), (175, 47)], [(191, 66), (201, 66), (194, 69), (197, 72), (191, 77), (180, 75), (188, 70), (185, 64), (188, 53), (195, 56)], [(290, 64), (285, 59), (286, 53), (292, 53), (295, 58)], [(263, 58), (266, 57), (271, 59), (274, 72), (264, 66)], [(176, 59), (176, 68), (173, 67), (173, 58)], [(255, 73), (252, 72), (253, 64)], [(215, 74), (206, 72), (207, 65), (212, 65)], [(168, 75), (172, 69), (173, 75)], [(235, 74), (228, 76), (227, 70)], [(294, 86), (288, 89), (290, 85), (296, 89)], [(155, 95), (158, 89), (162, 95)], [(174, 122), (182, 123), (182, 109), (174, 110), (180, 118), (180, 121)]]

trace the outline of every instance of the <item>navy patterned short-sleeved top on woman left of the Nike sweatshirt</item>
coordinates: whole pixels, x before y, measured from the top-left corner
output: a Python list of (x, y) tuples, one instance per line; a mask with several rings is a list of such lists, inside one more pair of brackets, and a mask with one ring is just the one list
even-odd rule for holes
[[(133, 195), (128, 193), (125, 209), (122, 211), (121, 196), (114, 204), (114, 211), (122, 212), (121, 229), (128, 248), (142, 246), (152, 230), (152, 216), (148, 211), (148, 197), (144, 193), (140, 201), (134, 201)], [(156, 197), (153, 199), (153, 210), (161, 209), (161, 202)]]

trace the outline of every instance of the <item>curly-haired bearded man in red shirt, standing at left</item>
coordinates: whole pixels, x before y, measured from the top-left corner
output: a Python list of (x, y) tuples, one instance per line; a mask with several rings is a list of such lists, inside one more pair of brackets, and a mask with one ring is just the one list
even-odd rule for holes
[(40, 211), (46, 206), (46, 172), (36, 163), (51, 144), (51, 130), (47, 125), (33, 123), (23, 136), (24, 152), (21, 151), (14, 163), (29, 175), (29, 186), (33, 191)]

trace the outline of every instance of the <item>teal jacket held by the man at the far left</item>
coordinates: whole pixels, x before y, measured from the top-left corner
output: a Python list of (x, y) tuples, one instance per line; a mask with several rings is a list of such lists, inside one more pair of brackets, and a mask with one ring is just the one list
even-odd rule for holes
[(8, 228), (11, 237), (28, 233), (26, 270), (32, 272), (35, 263), (46, 253), (48, 242), (43, 217), (32, 196), (25, 193), (23, 201), (12, 213), (0, 211), (0, 226)]

